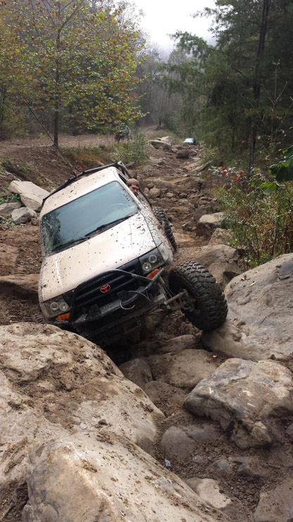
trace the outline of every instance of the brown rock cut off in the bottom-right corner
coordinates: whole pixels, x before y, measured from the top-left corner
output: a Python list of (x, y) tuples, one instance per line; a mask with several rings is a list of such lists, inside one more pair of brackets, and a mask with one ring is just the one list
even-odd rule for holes
[(291, 522), (293, 519), (293, 479), (283, 480), (274, 490), (262, 492), (254, 522)]

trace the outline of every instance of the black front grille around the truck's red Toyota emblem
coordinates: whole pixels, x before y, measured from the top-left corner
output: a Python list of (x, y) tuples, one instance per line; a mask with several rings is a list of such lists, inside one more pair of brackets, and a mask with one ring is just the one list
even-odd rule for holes
[[(127, 265), (123, 265), (119, 269), (132, 274), (142, 275), (139, 261), (127, 263)], [(101, 293), (101, 286), (105, 285), (111, 286), (111, 290), (107, 293)], [(87, 312), (94, 305), (101, 308), (104, 305), (113, 303), (113, 301), (118, 299), (119, 292), (136, 291), (141, 285), (142, 282), (139, 279), (128, 277), (120, 272), (100, 274), (93, 279), (89, 279), (89, 281), (80, 284), (75, 289), (73, 295), (74, 316), (77, 317), (81, 313)], [(75, 317), (70, 317), (70, 319), (73, 320)]]

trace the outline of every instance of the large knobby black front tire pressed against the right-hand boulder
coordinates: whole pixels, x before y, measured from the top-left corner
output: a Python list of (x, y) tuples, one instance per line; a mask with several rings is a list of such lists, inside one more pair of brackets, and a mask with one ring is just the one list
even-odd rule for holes
[(173, 293), (187, 290), (195, 299), (194, 311), (183, 310), (187, 319), (200, 330), (208, 332), (220, 326), (227, 317), (227, 301), (216, 279), (205, 267), (193, 261), (177, 265), (169, 274)]

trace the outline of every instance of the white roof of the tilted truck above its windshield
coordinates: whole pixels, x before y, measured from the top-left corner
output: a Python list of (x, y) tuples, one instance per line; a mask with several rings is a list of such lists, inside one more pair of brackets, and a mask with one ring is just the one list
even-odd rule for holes
[(108, 166), (106, 169), (85, 174), (79, 178), (77, 177), (73, 179), (70, 184), (60, 190), (54, 191), (54, 193), (51, 193), (51, 195), (44, 200), (40, 218), (42, 218), (44, 214), (47, 214), (62, 205), (66, 205), (66, 203), (76, 200), (84, 194), (106, 185), (106, 183), (118, 180), (119, 172), (115, 166)]

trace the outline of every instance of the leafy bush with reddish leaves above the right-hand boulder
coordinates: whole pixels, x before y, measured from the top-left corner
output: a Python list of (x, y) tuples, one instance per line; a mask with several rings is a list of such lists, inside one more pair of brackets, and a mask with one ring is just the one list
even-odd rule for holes
[(246, 268), (292, 252), (292, 183), (280, 186), (254, 169), (248, 175), (242, 172), (236, 182), (231, 178), (230, 186), (221, 188), (218, 198), (235, 238), (232, 245), (242, 251)]

